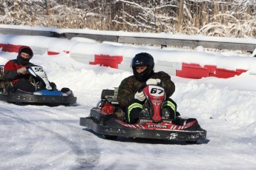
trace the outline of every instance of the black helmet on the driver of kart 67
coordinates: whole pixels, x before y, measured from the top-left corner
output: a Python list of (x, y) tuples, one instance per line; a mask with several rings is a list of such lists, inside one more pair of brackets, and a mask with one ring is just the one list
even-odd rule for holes
[[(143, 72), (137, 72), (136, 67), (147, 66)], [(141, 52), (132, 59), (131, 67), (134, 72), (135, 78), (138, 81), (147, 81), (148, 78), (154, 73), (154, 58), (147, 52)]]

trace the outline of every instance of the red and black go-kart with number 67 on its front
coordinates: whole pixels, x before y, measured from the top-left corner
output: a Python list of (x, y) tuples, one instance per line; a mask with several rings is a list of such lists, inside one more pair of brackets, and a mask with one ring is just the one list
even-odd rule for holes
[(206, 139), (206, 130), (200, 127), (197, 119), (177, 116), (171, 120), (166, 117), (166, 112), (161, 108), (165, 101), (163, 87), (148, 85), (142, 90), (148, 104), (138, 113), (140, 118), (137, 123), (129, 124), (125, 120), (124, 112), (116, 100), (118, 89), (115, 88), (102, 90), (101, 101), (91, 109), (88, 117), (80, 118), (80, 126), (86, 126), (110, 140), (116, 137), (138, 137), (197, 143), (198, 140)]

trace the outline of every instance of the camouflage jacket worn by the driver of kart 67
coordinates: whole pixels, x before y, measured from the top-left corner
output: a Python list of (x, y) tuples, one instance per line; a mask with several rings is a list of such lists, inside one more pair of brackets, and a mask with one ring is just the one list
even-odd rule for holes
[[(166, 97), (169, 98), (175, 91), (174, 82), (171, 81), (171, 76), (165, 72), (154, 72), (151, 78), (159, 78), (161, 80), (160, 86), (163, 86), (166, 92)], [(145, 84), (145, 82), (137, 81), (134, 75), (125, 78), (119, 85), (117, 101), (119, 105), (124, 108), (127, 106), (131, 99), (134, 99), (135, 93), (140, 89), (140, 86)]]

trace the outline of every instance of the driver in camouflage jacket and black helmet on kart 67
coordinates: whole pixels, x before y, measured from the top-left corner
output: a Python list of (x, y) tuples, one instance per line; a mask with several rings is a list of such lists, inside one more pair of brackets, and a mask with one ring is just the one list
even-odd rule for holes
[(126, 122), (133, 124), (139, 120), (145, 95), (138, 90), (145, 84), (159, 84), (165, 89), (166, 101), (163, 107), (168, 109), (169, 118), (174, 120), (177, 115), (177, 104), (170, 98), (175, 91), (171, 76), (165, 72), (154, 72), (154, 58), (146, 52), (135, 55), (131, 61), (131, 67), (134, 75), (121, 82), (117, 95), (117, 101), (125, 112)]

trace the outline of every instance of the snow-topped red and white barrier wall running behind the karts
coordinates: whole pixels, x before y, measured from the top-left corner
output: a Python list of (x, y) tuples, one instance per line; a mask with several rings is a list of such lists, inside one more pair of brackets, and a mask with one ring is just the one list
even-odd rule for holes
[[(4, 52), (18, 52), (19, 47), (22, 45), (14, 44), (0, 44), (1, 50)], [(30, 46), (31, 47), (31, 46)], [(34, 54), (40, 54), (47, 52), (47, 55), (58, 55), (59, 51), (48, 50), (46, 48), (31, 47)], [(115, 69), (123, 69), (131, 71), (130, 64), (131, 58), (125, 58), (120, 55), (85, 55), (85, 54), (73, 54), (68, 50), (63, 50), (67, 54), (70, 54), (78, 61), (85, 64), (98, 64), (104, 67), (111, 67)], [(167, 61), (156, 61), (155, 70), (167, 72), (169, 75), (177, 75), (182, 78), (205, 78), (214, 76), (217, 78), (231, 78), (235, 75), (240, 75), (246, 72), (246, 69), (221, 69), (214, 65), (200, 66), (200, 64), (188, 64), (184, 62), (167, 62)]]

